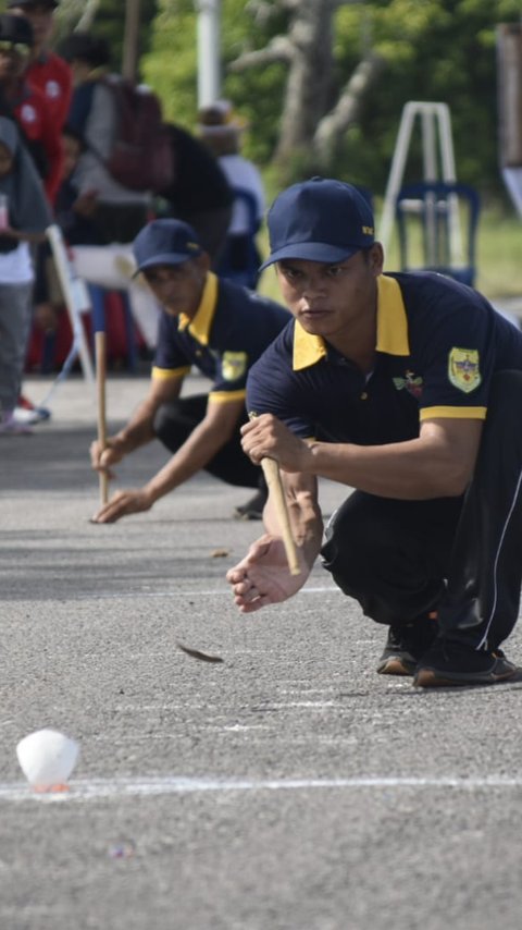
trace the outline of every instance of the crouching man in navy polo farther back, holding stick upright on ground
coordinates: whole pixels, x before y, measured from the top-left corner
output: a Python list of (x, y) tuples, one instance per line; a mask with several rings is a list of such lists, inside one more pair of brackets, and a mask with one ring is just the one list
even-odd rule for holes
[[(209, 270), (191, 227), (179, 220), (153, 220), (133, 243), (141, 272), (162, 306), (150, 389), (127, 425), (102, 448), (90, 448), (92, 467), (108, 472), (141, 445), (158, 438), (173, 456), (144, 488), (117, 491), (94, 516), (114, 523), (150, 510), (200, 469), (257, 493), (236, 516), (260, 518), (266, 487), (257, 463), (241, 450), (240, 426), (248, 369), (281, 332), (290, 315), (273, 301), (220, 280)], [(191, 366), (212, 381), (208, 394), (182, 397)]]

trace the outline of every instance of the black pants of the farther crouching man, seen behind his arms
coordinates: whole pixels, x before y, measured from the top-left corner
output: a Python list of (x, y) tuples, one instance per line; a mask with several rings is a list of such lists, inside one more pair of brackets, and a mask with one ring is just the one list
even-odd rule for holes
[[(163, 445), (171, 452), (177, 452), (203, 419), (207, 403), (207, 394), (195, 394), (191, 397), (162, 404), (154, 417), (154, 432)], [(246, 416), (245, 420), (238, 423), (232, 439), (220, 449), (204, 470), (226, 481), (227, 485), (238, 485), (244, 488), (264, 487), (261, 468), (253, 465), (241, 449), (239, 429), (243, 423), (246, 423)]]

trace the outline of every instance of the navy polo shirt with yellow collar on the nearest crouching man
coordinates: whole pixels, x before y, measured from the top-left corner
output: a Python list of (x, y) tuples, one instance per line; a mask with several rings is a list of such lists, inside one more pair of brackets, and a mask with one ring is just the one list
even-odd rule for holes
[(293, 319), (250, 370), (247, 408), (361, 445), (413, 439), (425, 419), (484, 419), (495, 371), (522, 369), (520, 330), (440, 274), (382, 274), (377, 289), (371, 375)]

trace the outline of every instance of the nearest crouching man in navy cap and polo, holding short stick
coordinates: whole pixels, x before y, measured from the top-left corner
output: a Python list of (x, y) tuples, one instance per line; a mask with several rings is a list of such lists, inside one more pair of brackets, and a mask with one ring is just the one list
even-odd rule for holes
[[(290, 575), (273, 502), (228, 572), (247, 613), (284, 601), (321, 553), (388, 627), (377, 672), (420, 687), (512, 682), (500, 645), (522, 560), (522, 334), (477, 292), (383, 273), (371, 208), (315, 178), (269, 212), (294, 319), (251, 368), (243, 446), (282, 469), (301, 562)], [(323, 539), (318, 477), (355, 489)]]

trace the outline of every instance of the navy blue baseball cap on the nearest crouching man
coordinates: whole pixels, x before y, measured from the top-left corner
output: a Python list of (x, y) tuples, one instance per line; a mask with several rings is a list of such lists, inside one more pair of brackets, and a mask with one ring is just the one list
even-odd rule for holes
[(268, 225), (271, 252), (260, 270), (284, 258), (344, 261), (375, 241), (368, 199), (351, 184), (330, 178), (283, 191), (269, 210)]

